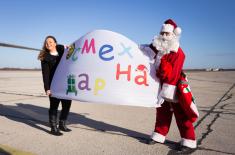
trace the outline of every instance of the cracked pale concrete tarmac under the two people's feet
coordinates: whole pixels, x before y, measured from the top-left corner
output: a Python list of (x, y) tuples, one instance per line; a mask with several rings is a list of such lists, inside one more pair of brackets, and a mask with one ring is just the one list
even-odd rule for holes
[[(235, 154), (235, 71), (187, 74), (200, 113), (192, 154)], [(174, 118), (165, 144), (145, 144), (154, 108), (73, 101), (72, 132), (57, 137), (49, 134), (48, 107), (40, 71), (0, 71), (0, 144), (37, 155), (176, 154)], [(0, 148), (0, 154), (10, 153)]]

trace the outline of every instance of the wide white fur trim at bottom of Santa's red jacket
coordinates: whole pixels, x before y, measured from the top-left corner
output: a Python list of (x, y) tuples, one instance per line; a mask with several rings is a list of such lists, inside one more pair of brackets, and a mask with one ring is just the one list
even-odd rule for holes
[(160, 95), (165, 100), (174, 101), (175, 100), (175, 93), (176, 93), (176, 86), (170, 85), (167, 83), (163, 83), (162, 90), (160, 92)]

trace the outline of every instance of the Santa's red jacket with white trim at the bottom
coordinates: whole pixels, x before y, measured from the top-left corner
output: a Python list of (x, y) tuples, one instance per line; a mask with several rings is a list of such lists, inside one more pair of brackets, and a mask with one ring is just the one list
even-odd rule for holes
[(157, 69), (157, 77), (162, 83), (160, 96), (167, 101), (177, 101), (176, 85), (180, 79), (184, 60), (185, 55), (180, 47), (177, 51), (172, 51), (161, 57), (161, 62)]

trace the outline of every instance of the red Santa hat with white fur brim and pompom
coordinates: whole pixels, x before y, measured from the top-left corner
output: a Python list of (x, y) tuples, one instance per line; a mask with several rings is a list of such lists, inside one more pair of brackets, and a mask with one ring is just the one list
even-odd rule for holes
[(181, 31), (182, 31), (181, 28), (178, 27), (177, 24), (172, 19), (166, 20), (162, 25), (161, 29), (161, 32), (171, 32), (177, 36), (181, 34)]

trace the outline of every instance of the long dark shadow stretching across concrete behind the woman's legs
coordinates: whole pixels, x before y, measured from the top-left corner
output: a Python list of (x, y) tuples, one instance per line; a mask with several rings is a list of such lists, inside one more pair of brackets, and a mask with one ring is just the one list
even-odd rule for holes
[[(0, 115), (6, 118), (27, 124), (38, 130), (50, 133), (48, 123), (48, 108), (35, 106), (32, 104), (16, 103), (16, 105), (0, 104)], [(59, 114), (59, 112), (58, 112)], [(119, 126), (111, 125), (102, 121), (87, 118), (87, 114), (69, 113), (68, 124), (81, 124), (88, 128), (72, 126), (73, 128), (81, 128), (85, 130), (93, 130), (114, 135), (122, 135), (144, 141), (149, 135), (137, 131), (129, 130)], [(45, 126), (45, 127), (43, 127)]]

